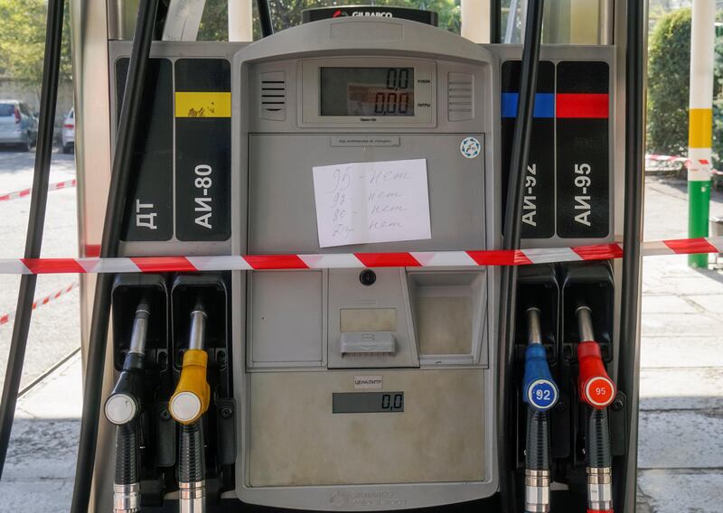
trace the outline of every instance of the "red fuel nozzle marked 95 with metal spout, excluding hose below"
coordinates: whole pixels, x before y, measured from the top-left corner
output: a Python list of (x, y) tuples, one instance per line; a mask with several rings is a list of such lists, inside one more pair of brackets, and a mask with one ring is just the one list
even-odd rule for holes
[(576, 314), (580, 332), (580, 343), (577, 345), (577, 361), (580, 365), (577, 387), (580, 400), (602, 409), (610, 406), (615, 399), (615, 383), (607, 375), (600, 345), (595, 340), (590, 309), (580, 306)]

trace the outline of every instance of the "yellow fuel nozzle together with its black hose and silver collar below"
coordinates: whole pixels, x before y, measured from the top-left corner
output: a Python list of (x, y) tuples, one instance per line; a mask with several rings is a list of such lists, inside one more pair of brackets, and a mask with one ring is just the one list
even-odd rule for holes
[(182, 513), (199, 513), (205, 509), (202, 415), (211, 399), (206, 376), (208, 355), (204, 350), (206, 312), (197, 306), (191, 312), (188, 350), (183, 354), (181, 378), (168, 409), (181, 424), (179, 441), (178, 488)]

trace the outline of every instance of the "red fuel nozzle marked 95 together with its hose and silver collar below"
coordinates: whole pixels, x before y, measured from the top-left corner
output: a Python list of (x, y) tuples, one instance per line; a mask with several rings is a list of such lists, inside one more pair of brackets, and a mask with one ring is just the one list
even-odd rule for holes
[(587, 511), (613, 511), (613, 457), (610, 452), (610, 426), (607, 406), (615, 399), (615, 384), (607, 375), (600, 346), (593, 332), (592, 312), (587, 306), (577, 308), (580, 343), (577, 378), (580, 400), (590, 406), (587, 414)]

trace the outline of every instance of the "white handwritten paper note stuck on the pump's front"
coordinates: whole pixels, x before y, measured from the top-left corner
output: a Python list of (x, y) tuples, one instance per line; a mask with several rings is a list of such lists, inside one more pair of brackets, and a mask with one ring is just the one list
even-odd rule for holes
[(319, 246), (432, 238), (427, 161), (314, 168)]

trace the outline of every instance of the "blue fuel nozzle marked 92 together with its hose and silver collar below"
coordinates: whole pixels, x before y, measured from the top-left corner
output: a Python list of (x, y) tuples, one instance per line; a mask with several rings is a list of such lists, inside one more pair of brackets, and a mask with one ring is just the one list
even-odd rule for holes
[(527, 403), (527, 438), (525, 441), (525, 511), (549, 511), (549, 409), (558, 402), (558, 386), (549, 372), (547, 354), (542, 345), (540, 310), (529, 308), (528, 346), (522, 399)]

